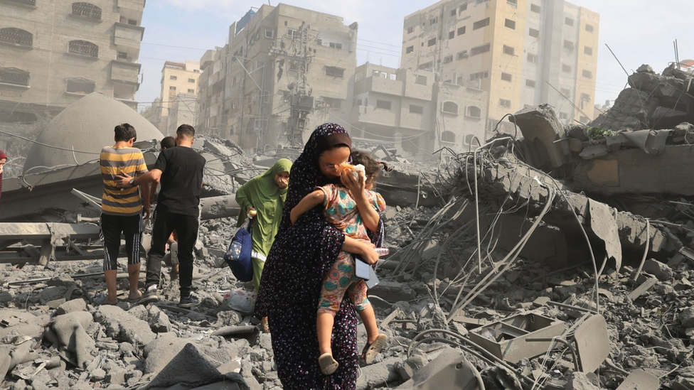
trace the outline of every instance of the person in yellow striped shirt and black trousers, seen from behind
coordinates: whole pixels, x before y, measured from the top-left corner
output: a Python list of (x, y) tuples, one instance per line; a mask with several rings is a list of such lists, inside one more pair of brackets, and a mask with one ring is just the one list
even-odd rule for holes
[(129, 300), (142, 295), (137, 289), (140, 275), (140, 242), (142, 241), (142, 212), (149, 218), (149, 185), (119, 188), (116, 175), (143, 175), (147, 172), (142, 151), (133, 148), (137, 139), (135, 128), (130, 124), (119, 124), (114, 129), (113, 146), (101, 150), (101, 175), (104, 180), (104, 195), (101, 200), (101, 238), (104, 241), (104, 277), (108, 296), (104, 304), (118, 303), (116, 296), (116, 273), (121, 233), (125, 236), (128, 254), (128, 276), (130, 281)]

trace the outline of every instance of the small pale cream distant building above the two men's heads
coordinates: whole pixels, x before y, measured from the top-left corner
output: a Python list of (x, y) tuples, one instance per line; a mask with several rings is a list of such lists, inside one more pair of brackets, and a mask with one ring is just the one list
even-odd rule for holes
[[(178, 94), (186, 94), (188, 97), (183, 99), (186, 104), (191, 104), (190, 96), (198, 93), (198, 78), (200, 77), (200, 63), (188, 61), (185, 63), (173, 63), (166, 61), (161, 68), (161, 96), (156, 105), (153, 104), (155, 113), (154, 118), (157, 128), (162, 134), (171, 135), (169, 131), (169, 111)], [(194, 100), (194, 99), (193, 99)], [(195, 102), (193, 102), (195, 104)], [(188, 111), (186, 107), (183, 110)], [(193, 106), (193, 112), (195, 107)], [(173, 122), (177, 122), (173, 120)], [(177, 128), (178, 126), (176, 126)], [(173, 131), (175, 133), (176, 131)]]

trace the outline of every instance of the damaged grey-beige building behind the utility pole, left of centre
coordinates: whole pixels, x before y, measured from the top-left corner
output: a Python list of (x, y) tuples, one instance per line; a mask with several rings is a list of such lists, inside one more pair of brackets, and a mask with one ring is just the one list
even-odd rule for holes
[(245, 151), (303, 144), (317, 124), (346, 125), (357, 25), (287, 4), (263, 5), (201, 59), (198, 127)]

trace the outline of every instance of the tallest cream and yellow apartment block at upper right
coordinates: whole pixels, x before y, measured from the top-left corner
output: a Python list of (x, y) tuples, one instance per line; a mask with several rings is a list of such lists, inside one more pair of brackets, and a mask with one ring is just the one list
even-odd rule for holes
[(565, 123), (585, 124), (593, 119), (598, 25), (597, 13), (563, 0), (439, 1), (405, 17), (402, 66), (488, 91), (488, 130), (542, 103)]

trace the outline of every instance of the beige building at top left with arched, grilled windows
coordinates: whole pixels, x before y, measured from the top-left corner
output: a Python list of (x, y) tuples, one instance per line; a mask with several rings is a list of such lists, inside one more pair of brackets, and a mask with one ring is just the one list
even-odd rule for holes
[(0, 1), (0, 124), (53, 116), (91, 92), (137, 108), (144, 3)]

